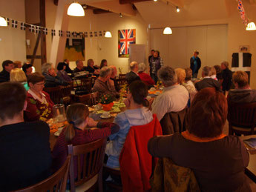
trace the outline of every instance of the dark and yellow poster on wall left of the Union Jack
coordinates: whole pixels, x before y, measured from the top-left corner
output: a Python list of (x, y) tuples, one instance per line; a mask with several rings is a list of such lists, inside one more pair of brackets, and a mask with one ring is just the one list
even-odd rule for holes
[(85, 61), (85, 39), (67, 39), (64, 59), (70, 62)]

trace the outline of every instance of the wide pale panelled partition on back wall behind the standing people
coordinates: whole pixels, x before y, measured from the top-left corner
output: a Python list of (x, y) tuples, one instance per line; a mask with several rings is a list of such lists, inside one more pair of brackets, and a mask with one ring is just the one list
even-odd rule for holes
[(202, 66), (227, 60), (227, 25), (174, 27), (171, 35), (163, 29), (151, 29), (150, 49), (160, 50), (163, 62), (171, 67), (189, 67), (194, 50), (199, 50)]

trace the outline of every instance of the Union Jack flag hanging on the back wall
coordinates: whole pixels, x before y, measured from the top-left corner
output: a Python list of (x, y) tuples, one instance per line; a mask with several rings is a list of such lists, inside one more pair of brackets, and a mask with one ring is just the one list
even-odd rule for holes
[(118, 56), (129, 57), (129, 44), (136, 43), (136, 30), (118, 30)]

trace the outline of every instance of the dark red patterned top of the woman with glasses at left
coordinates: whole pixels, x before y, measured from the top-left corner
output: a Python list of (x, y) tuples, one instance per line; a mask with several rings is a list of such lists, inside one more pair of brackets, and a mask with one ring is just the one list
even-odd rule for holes
[(40, 102), (37, 99), (33, 99), (33, 96), (27, 92), (27, 108), (24, 110), (24, 119), (26, 122), (34, 122), (37, 120), (46, 121), (53, 117), (53, 105), (54, 103), (50, 99), (50, 96), (45, 91), (45, 99), (47, 104)]

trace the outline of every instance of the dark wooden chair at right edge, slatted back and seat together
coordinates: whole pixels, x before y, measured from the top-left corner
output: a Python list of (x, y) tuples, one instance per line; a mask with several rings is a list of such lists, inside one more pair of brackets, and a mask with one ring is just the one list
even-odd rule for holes
[(256, 133), (256, 102), (233, 103), (228, 102), (229, 135)]

